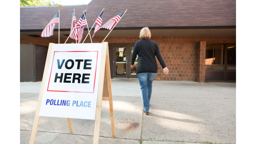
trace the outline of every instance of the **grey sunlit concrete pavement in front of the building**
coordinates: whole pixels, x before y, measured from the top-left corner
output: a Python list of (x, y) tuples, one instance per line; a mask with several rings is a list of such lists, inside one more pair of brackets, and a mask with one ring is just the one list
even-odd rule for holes
[[(142, 113), (138, 79), (111, 84), (116, 136), (103, 101), (100, 144), (236, 143), (236, 83), (154, 81), (149, 115)], [(41, 82), (20, 82), (21, 144), (29, 143), (40, 87)], [(40, 117), (35, 144), (91, 144), (95, 121), (71, 122), (73, 133), (66, 118)]]

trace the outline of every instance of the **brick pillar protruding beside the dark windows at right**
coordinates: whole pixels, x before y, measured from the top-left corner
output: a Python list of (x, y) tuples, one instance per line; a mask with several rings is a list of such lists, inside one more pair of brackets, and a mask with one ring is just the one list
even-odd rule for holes
[(205, 82), (206, 41), (196, 43), (196, 81)]

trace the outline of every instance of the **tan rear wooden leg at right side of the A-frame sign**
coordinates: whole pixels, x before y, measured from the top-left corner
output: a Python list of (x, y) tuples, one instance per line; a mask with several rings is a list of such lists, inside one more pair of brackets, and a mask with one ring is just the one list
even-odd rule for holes
[(108, 46), (107, 46), (107, 53), (106, 53), (106, 75), (107, 75), (107, 84), (108, 84), (108, 101), (109, 101), (110, 118), (111, 118), (111, 130), (112, 130), (112, 136), (116, 136)]

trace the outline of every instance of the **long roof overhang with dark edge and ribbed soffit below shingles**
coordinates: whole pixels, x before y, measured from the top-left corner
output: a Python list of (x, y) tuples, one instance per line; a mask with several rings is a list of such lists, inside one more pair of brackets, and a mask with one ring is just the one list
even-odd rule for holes
[[(117, 27), (111, 31), (108, 37), (138, 37), (142, 28)], [(149, 27), (149, 29), (151, 36), (236, 36), (236, 26)], [(42, 31), (42, 29), (20, 30), (20, 38), (36, 38), (28, 35), (41, 35)], [(91, 36), (93, 32), (94, 28), (90, 32)], [(94, 37), (106, 37), (109, 32), (110, 30), (100, 29)], [(70, 29), (60, 29), (60, 38), (67, 38), (69, 34)], [(86, 37), (87, 34), (88, 30), (84, 29), (83, 37)], [(58, 38), (58, 36), (58, 29), (55, 28), (51, 38)]]

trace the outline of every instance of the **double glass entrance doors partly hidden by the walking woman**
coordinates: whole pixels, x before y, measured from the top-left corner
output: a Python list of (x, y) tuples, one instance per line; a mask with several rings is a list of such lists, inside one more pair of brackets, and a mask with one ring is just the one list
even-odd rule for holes
[(114, 45), (114, 78), (138, 78), (136, 73), (137, 61), (131, 70), (131, 54), (134, 45)]

